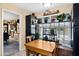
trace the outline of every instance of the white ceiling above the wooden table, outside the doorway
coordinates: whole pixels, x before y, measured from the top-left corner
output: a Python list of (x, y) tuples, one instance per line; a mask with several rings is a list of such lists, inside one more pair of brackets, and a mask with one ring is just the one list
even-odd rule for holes
[(68, 3), (52, 3), (50, 7), (44, 7), (44, 3), (13, 3), (14, 5), (23, 8), (29, 12), (44, 12), (50, 8), (60, 7)]

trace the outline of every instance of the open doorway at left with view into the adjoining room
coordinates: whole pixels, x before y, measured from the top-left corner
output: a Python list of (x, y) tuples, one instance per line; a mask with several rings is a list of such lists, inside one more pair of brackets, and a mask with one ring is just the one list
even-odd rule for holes
[(3, 55), (12, 56), (20, 50), (20, 15), (2, 9)]

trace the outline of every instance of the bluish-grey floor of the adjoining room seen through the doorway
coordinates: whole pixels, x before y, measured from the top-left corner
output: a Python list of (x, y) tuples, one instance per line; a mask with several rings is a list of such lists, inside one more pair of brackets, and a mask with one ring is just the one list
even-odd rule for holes
[(11, 56), (19, 51), (19, 42), (12, 40), (4, 44), (4, 56)]

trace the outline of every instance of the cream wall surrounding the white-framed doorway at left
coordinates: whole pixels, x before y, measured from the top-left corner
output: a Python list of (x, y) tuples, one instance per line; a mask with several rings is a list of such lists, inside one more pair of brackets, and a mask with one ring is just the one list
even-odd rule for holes
[(19, 14), (21, 14), (21, 25), (20, 25), (20, 39), (21, 39), (21, 50), (23, 50), (24, 44), (25, 44), (25, 16), (28, 15), (28, 11), (18, 8), (10, 3), (0, 3), (0, 55), (2, 55), (2, 41), (3, 41), (3, 34), (2, 34), (2, 10), (1, 9), (8, 9), (14, 12), (17, 12)]

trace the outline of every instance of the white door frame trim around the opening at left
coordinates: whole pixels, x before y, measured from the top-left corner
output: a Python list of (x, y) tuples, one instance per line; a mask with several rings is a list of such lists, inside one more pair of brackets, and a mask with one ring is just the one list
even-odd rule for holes
[[(3, 44), (3, 17), (4, 17), (4, 11), (16, 14), (19, 16), (19, 28), (21, 28), (21, 14), (12, 11), (12, 10), (8, 10), (8, 9), (4, 9), (2, 8), (2, 56), (4, 56), (4, 44)], [(21, 51), (21, 29), (19, 29), (19, 51)]]

